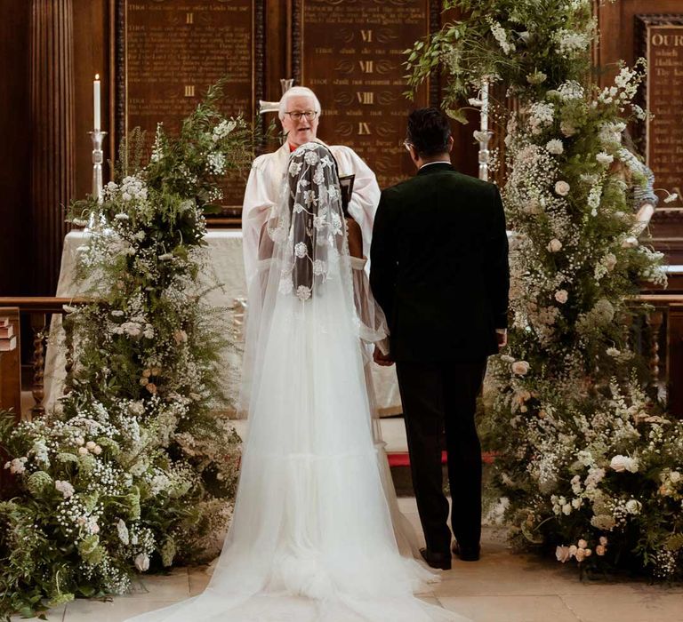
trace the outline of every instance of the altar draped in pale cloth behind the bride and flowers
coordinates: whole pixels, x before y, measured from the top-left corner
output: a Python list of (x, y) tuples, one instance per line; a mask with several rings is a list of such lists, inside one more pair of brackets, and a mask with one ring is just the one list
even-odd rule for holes
[[(87, 233), (71, 231), (64, 238), (61, 254), (60, 278), (56, 296), (60, 298), (77, 298), (90, 289), (90, 283), (79, 283), (76, 279), (76, 261), (79, 248), (87, 243)], [(242, 232), (237, 229), (213, 229), (206, 233), (205, 242), (209, 256), (206, 270), (208, 274), (200, 276), (205, 283), (220, 283), (205, 295), (213, 307), (221, 310), (224, 320), (235, 329), (241, 339), (244, 338), (242, 323), (246, 305), (245, 267), (242, 259)], [(65, 347), (61, 316), (52, 317), (50, 338), (45, 355), (44, 372), (44, 405), (50, 409), (63, 393), (65, 373)], [(383, 417), (395, 415), (402, 411), (395, 367), (372, 365), (374, 390), (377, 406)], [(241, 360), (234, 351), (222, 353), (221, 385), (229, 395), (239, 390)], [(237, 417), (237, 413), (229, 413)]]

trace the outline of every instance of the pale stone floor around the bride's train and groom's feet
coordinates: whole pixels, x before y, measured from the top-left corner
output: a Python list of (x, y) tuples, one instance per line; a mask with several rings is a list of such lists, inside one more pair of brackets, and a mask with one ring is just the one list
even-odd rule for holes
[[(413, 498), (401, 509), (419, 527)], [(683, 622), (683, 586), (579, 581), (575, 566), (511, 554), (500, 534), (486, 529), (480, 562), (454, 560), (452, 570), (421, 598), (476, 622)], [(119, 622), (200, 593), (205, 568), (142, 578), (133, 594), (113, 601), (70, 602), (51, 610), (50, 622)], [(19, 618), (12, 618), (12, 621)]]

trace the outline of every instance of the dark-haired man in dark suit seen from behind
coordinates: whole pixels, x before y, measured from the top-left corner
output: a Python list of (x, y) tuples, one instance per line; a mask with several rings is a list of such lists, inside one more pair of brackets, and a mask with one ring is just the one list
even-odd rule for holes
[(508, 241), (501, 195), (450, 162), (453, 137), (436, 108), (408, 117), (418, 171), (382, 191), (370, 283), (390, 325), (417, 508), (432, 568), (451, 568), (441, 451), (448, 453), (454, 554), (479, 559), (481, 447), (474, 415), (486, 357), (506, 343)]

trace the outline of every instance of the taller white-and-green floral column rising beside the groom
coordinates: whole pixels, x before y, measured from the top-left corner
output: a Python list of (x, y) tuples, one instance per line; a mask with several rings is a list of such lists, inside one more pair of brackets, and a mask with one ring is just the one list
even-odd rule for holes
[[(639, 241), (634, 195), (647, 179), (624, 130), (644, 63), (591, 81), (587, 0), (457, 0), (468, 14), (409, 51), (415, 86), (435, 68), (444, 105), (486, 79), (514, 106), (502, 188), (510, 249), (509, 346), (489, 363), (488, 449), (510, 534), (581, 570), (683, 570), (683, 422), (647, 395), (631, 346), (638, 283), (665, 285), (662, 254)], [(510, 108), (510, 109), (508, 109)], [(672, 197), (670, 197), (672, 198)]]

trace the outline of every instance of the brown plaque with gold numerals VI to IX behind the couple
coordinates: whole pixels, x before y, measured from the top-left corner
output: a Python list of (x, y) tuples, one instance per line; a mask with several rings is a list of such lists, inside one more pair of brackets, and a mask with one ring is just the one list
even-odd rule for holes
[[(315, 84), (317, 96), (327, 102), (325, 118), (334, 120), (324, 122), (325, 140), (356, 151), (373, 169), (380, 187), (393, 186), (414, 172), (397, 138), (406, 127), (401, 103), (406, 77), (399, 57), (429, 34), (434, 1), (297, 0), (304, 9), (301, 75), (306, 84)], [(339, 36), (330, 36), (331, 29), (338, 30)], [(424, 84), (415, 105), (428, 103)]]

